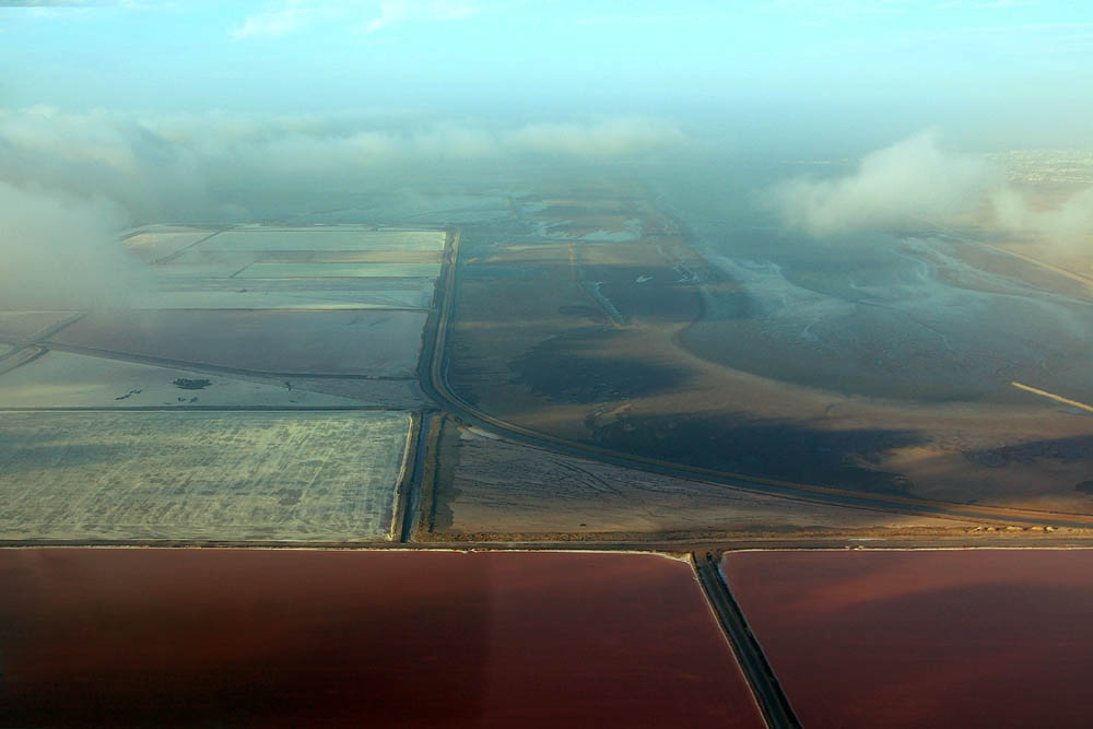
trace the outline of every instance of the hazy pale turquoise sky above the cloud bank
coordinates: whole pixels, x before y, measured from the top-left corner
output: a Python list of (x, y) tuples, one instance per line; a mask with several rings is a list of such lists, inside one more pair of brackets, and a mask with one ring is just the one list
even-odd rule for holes
[(0, 68), (8, 108), (636, 114), (756, 131), (865, 120), (881, 138), (1004, 127), (1081, 143), (1093, 12), (1061, 0), (0, 0)]

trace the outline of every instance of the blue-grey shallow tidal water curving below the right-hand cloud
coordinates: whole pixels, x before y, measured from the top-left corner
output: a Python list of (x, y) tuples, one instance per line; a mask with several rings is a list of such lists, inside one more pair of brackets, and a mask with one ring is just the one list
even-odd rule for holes
[[(739, 286), (684, 342), (777, 379), (909, 400), (1008, 400), (1011, 380), (1093, 398), (1093, 304), (972, 269), (931, 236), (783, 231), (756, 189), (784, 171), (662, 181), (660, 202)], [(943, 270), (942, 270), (943, 269)], [(962, 277), (968, 285), (955, 285)]]

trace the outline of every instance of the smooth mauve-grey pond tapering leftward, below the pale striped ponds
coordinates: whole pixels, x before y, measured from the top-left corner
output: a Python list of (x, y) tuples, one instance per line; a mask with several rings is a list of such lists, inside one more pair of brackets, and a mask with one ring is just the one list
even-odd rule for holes
[(427, 316), (381, 309), (104, 311), (54, 341), (258, 373), (412, 377)]

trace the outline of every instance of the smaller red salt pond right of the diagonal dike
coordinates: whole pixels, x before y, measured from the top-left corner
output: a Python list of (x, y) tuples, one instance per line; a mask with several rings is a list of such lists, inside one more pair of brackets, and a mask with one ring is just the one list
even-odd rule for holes
[(806, 727), (1090, 726), (1093, 551), (738, 552)]

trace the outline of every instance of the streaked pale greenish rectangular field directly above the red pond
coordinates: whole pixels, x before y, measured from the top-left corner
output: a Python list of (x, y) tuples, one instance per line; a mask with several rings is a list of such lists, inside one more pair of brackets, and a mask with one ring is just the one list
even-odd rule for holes
[(389, 538), (409, 415), (8, 412), (0, 539)]

